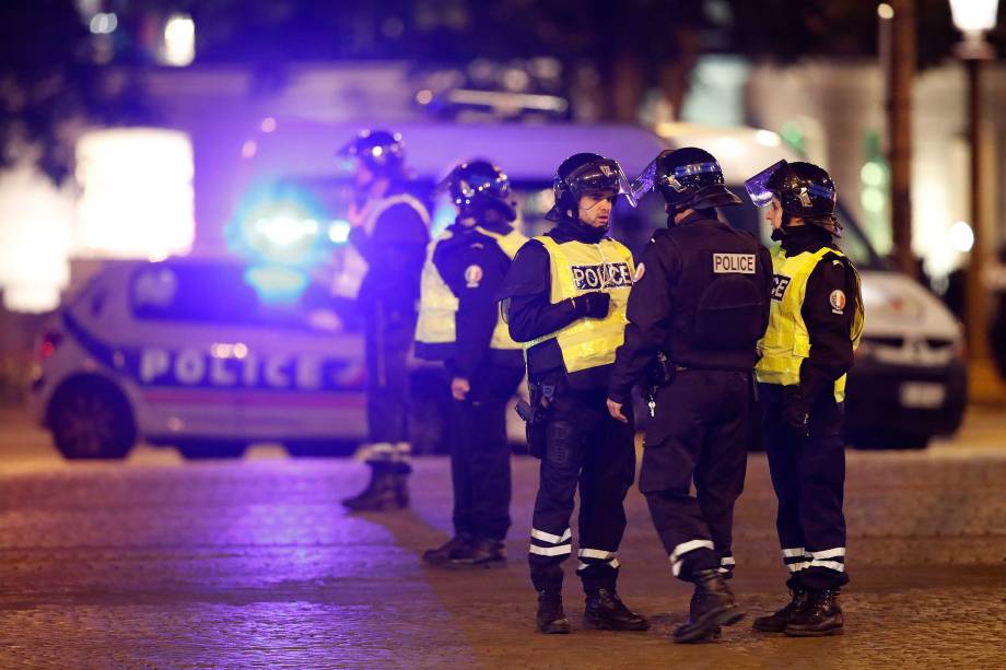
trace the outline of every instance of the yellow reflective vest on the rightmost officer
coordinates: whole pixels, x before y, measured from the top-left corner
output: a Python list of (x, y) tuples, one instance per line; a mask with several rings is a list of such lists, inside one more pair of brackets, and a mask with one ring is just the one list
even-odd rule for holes
[[(793, 386), (800, 383), (800, 364), (810, 356), (810, 334), (804, 322), (804, 296), (810, 273), (828, 254), (843, 256), (841, 251), (824, 247), (818, 251), (804, 251), (788, 257), (782, 248), (772, 252), (772, 269), (775, 273), (769, 328), (758, 342), (762, 356), (754, 365), (759, 381)], [(859, 277), (856, 277), (856, 306), (849, 333), (853, 350), (859, 346), (863, 334), (863, 296), (859, 294)], [(837, 402), (845, 399), (845, 377), (834, 383)]]

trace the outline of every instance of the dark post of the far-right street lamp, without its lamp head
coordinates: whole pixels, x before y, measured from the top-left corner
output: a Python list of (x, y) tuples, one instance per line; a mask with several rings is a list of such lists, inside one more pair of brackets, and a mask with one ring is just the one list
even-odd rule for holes
[(987, 362), (989, 327), (985, 315), (985, 290), (982, 281), (985, 251), (985, 208), (982, 189), (982, 59), (964, 60), (968, 71), (968, 142), (971, 148), (971, 227), (974, 246), (967, 273), (964, 319), (968, 337), (968, 358), (971, 367)]

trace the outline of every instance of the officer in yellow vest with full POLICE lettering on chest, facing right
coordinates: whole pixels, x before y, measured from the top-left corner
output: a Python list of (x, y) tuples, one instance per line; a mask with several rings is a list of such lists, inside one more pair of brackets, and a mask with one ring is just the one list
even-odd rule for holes
[(572, 553), (570, 515), (577, 484), (576, 574), (586, 591), (584, 624), (617, 631), (650, 627), (616, 591), (623, 501), (635, 473), (635, 451), (632, 426), (611, 419), (605, 405), (632, 287), (632, 256), (608, 237), (616, 197), (627, 188), (616, 161), (593, 153), (566, 158), (553, 184), (555, 204), (547, 214), (555, 226), (522, 247), (501, 290), (510, 333), (524, 343), (535, 405), (531, 424), (540, 424), (528, 431), (529, 446), (541, 458), (529, 563), (542, 633), (570, 632), (562, 609), (562, 562)]

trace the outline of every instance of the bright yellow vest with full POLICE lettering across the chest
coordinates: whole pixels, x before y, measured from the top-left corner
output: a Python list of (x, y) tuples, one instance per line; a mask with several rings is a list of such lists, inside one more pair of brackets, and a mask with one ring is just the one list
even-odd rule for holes
[(613, 239), (600, 244), (569, 242), (557, 244), (551, 237), (536, 237), (549, 252), (552, 304), (604, 291), (611, 295), (608, 316), (603, 319), (577, 319), (565, 328), (524, 343), (525, 352), (536, 344), (555, 339), (562, 351), (566, 372), (575, 373), (615, 362), (615, 350), (625, 338), (625, 306), (635, 268), (632, 254)]

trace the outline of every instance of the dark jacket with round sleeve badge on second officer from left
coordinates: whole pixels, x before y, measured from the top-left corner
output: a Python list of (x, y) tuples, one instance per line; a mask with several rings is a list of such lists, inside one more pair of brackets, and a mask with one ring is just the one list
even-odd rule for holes
[[(504, 222), (483, 220), (478, 225), (500, 235), (513, 231)], [(458, 298), (454, 358), (448, 363), (453, 374), (471, 379), (486, 363), (522, 367), (524, 353), (519, 349), (489, 346), (500, 314), (496, 293), (510, 269), (510, 257), (494, 238), (473, 226), (455, 223), (447, 230), (452, 236), (436, 245), (433, 265)]]

